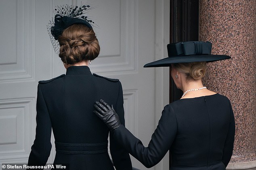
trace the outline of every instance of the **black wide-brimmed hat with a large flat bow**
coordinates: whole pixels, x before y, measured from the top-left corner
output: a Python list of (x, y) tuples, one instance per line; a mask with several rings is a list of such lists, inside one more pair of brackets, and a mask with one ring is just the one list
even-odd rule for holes
[(213, 62), (230, 59), (228, 55), (212, 55), (212, 43), (187, 41), (167, 45), (168, 57), (145, 64), (146, 67), (170, 67), (172, 63)]

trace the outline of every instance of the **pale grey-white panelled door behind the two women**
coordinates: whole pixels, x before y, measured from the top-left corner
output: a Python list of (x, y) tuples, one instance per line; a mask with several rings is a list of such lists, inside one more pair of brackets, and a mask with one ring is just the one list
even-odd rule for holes
[[(166, 71), (143, 65), (165, 57), (168, 0), (0, 0), (0, 164), (27, 162), (35, 137), (38, 81), (65, 74), (46, 25), (56, 5), (81, 3), (94, 8), (88, 16), (99, 26), (94, 31), (101, 52), (90, 70), (120, 79), (126, 127), (145, 146), (149, 143), (168, 92)], [(52, 145), (49, 163), (55, 156), (54, 137)], [(147, 169), (134, 158), (132, 163)], [(166, 167), (160, 164), (151, 169)]]

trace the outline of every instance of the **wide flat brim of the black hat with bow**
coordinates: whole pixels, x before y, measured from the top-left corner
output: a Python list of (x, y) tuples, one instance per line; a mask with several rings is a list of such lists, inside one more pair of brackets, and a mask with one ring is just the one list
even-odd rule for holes
[(157, 61), (153, 61), (144, 65), (147, 67), (170, 67), (172, 63), (191, 63), (191, 62), (213, 62), (219, 61), (223, 59), (230, 59), (231, 57), (228, 55), (185, 55), (185, 56), (172, 56), (163, 59), (159, 59)]

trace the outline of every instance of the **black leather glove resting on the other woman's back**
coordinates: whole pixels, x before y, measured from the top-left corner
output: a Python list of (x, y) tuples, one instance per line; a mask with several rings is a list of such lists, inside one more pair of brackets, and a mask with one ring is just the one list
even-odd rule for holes
[(118, 128), (121, 123), (118, 117), (118, 114), (115, 113), (115, 110), (109, 106), (104, 100), (95, 102), (93, 111), (101, 120), (107, 125), (110, 131)]

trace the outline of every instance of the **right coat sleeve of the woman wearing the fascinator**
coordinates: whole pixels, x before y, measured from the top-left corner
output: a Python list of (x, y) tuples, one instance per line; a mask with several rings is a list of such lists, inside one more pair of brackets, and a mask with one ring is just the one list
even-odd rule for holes
[[(120, 82), (118, 99), (115, 104), (115, 110), (118, 113), (120, 123), (125, 126), (124, 122), (124, 99), (123, 90)], [(109, 134), (110, 140), (110, 153), (116, 170), (132, 170), (132, 163), (129, 153), (120, 145), (114, 138), (113, 134)]]

